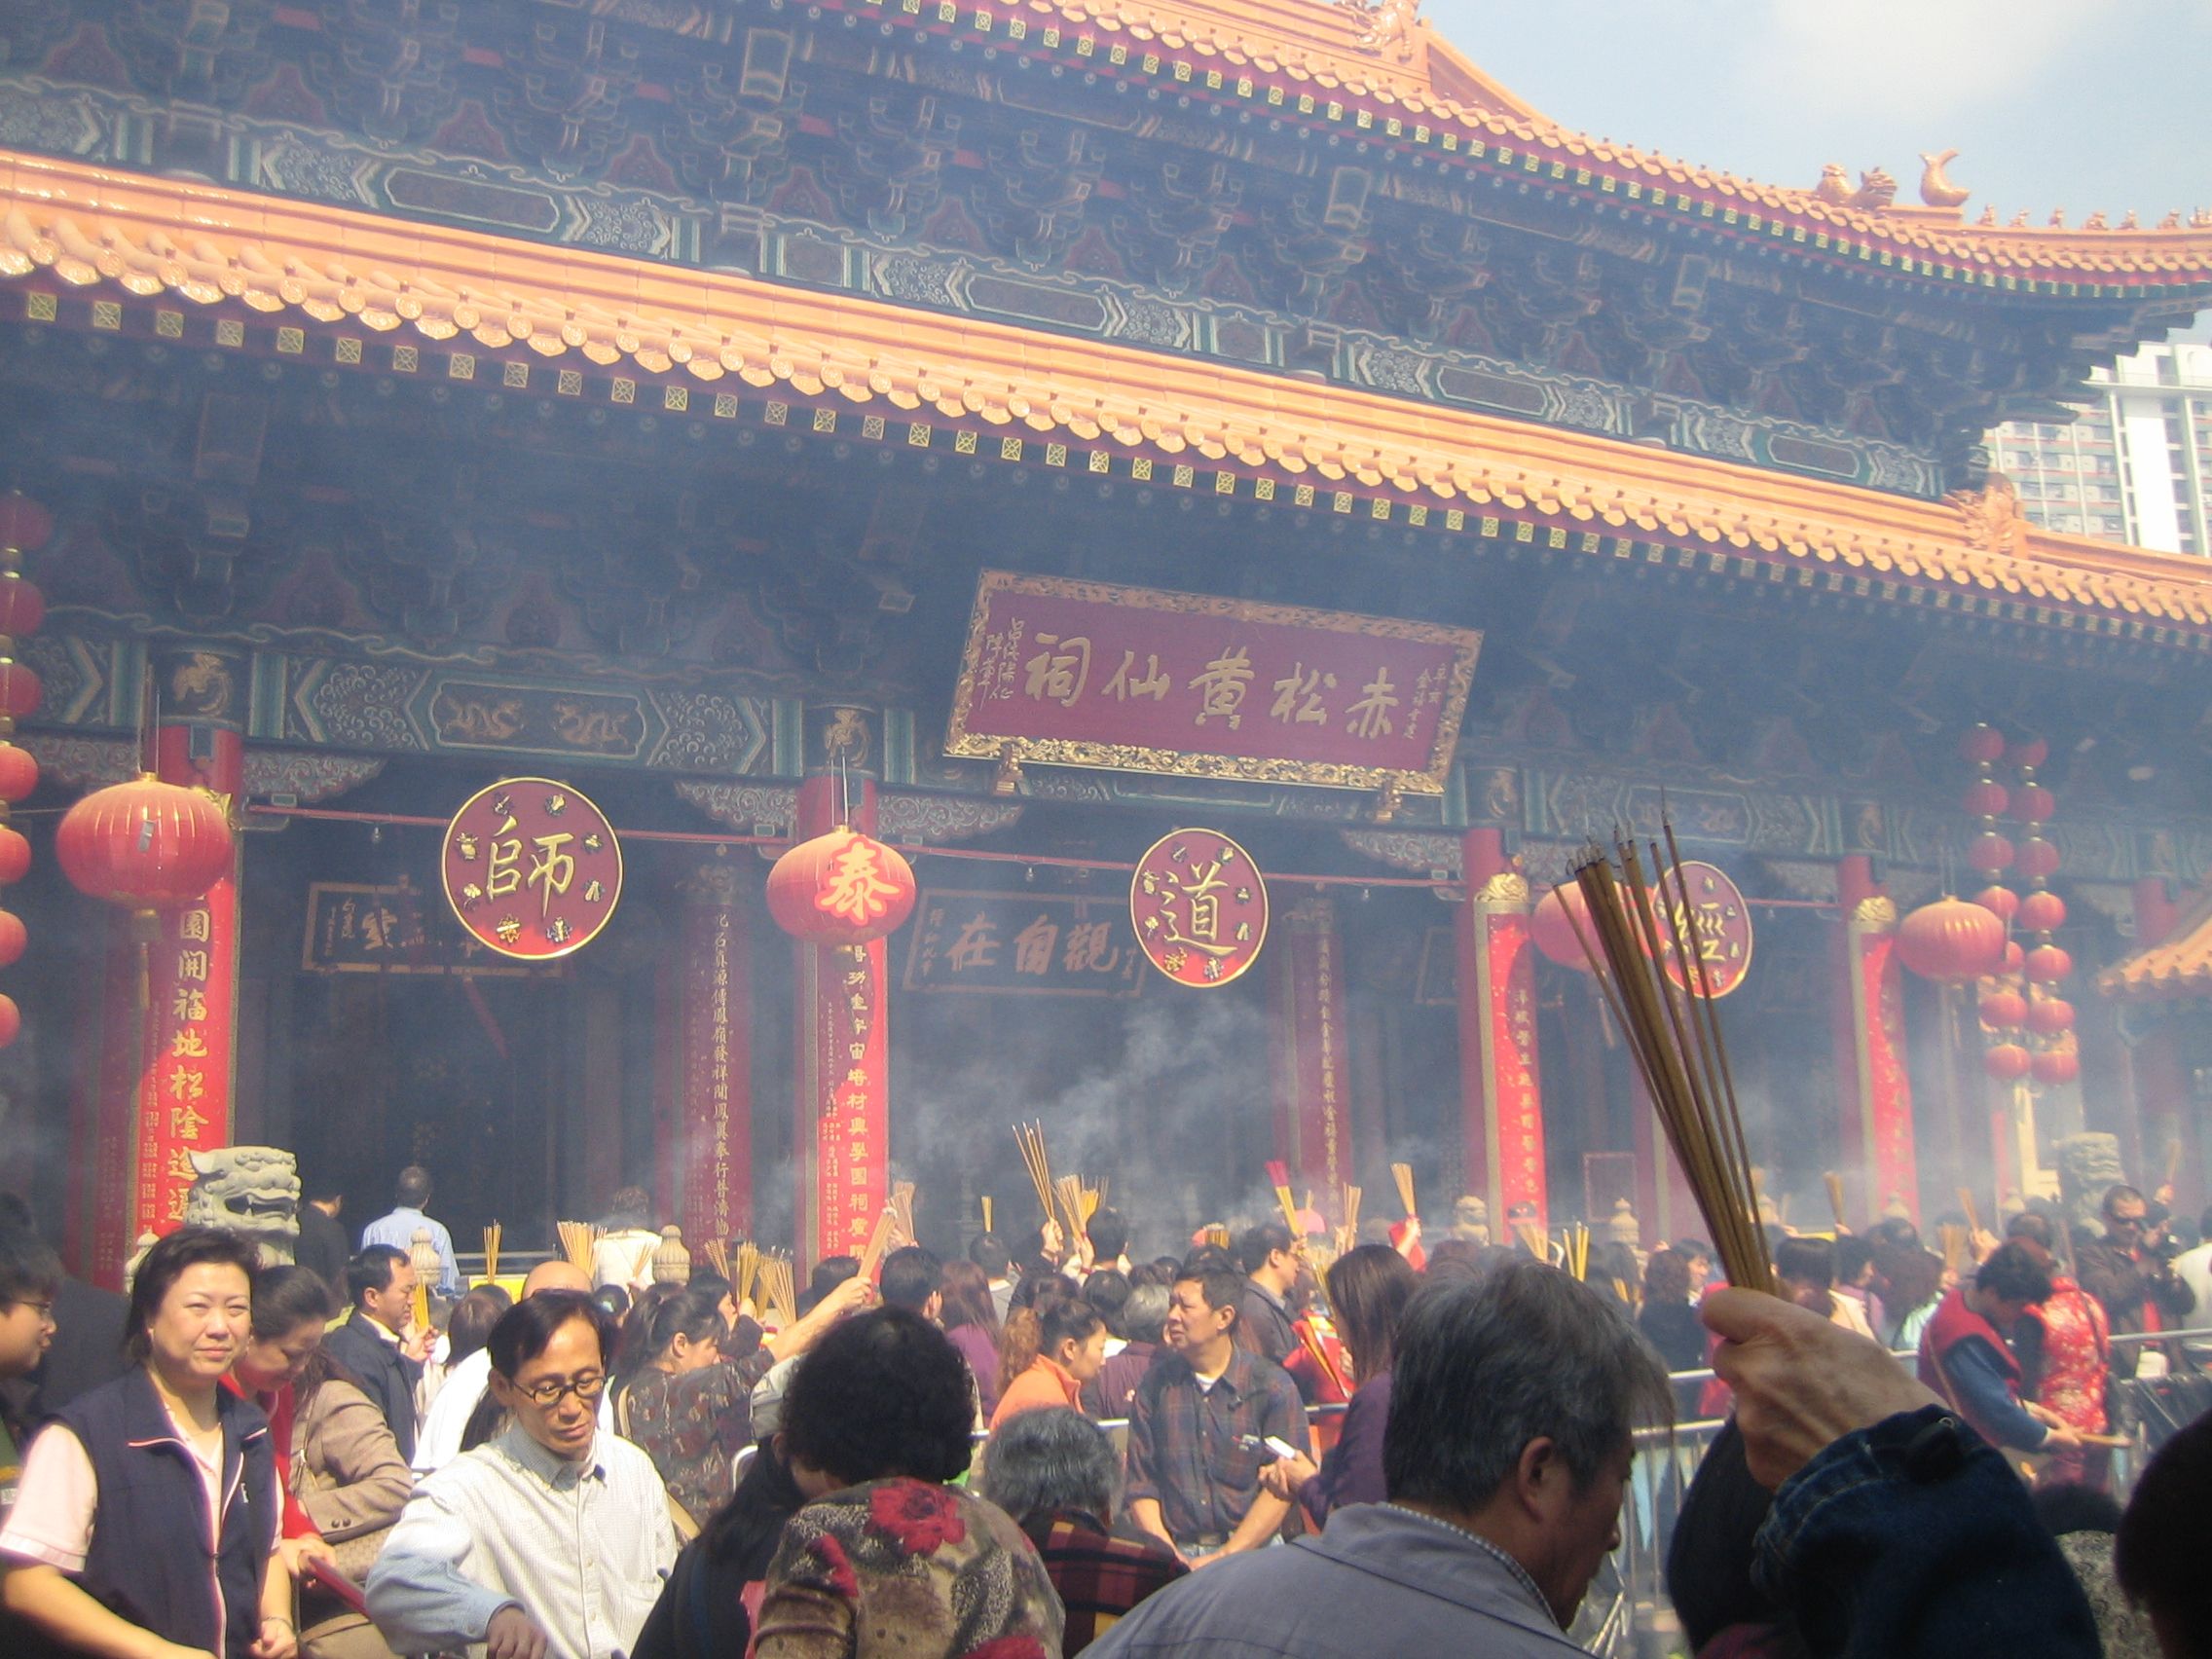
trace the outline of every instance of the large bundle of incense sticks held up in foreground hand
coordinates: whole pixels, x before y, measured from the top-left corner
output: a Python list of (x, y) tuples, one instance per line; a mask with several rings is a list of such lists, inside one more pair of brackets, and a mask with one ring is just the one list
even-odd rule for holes
[[(1624, 836), (1615, 843), (1617, 874), (1595, 845), (1575, 867), (1575, 885), (1588, 902), (1588, 929), (1573, 909), (1568, 920), (1613, 1018), (1628, 1035), (1652, 1108), (1690, 1181), (1714, 1250), (1721, 1252), (1728, 1283), (1772, 1292), (1774, 1265), (1759, 1228), (1752, 1157), (1705, 971), (1703, 931), (1697, 907), (1688, 902), (1674, 825), (1663, 810), (1661, 827), (1668, 856), (1661, 863), (1659, 847), (1652, 845), (1657, 909), (1652, 887), (1644, 880), (1644, 860)], [(1663, 931), (1661, 914), (1672, 922)], [(1668, 973), (1670, 964), (1674, 973)]]

